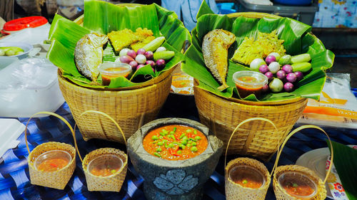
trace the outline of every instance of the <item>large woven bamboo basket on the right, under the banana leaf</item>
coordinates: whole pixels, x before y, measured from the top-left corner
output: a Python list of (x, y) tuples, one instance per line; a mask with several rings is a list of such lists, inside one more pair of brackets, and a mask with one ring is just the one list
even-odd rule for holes
[[(230, 17), (278, 18), (271, 14), (236, 13)], [(197, 85), (197, 83), (195, 83)], [(228, 154), (241, 154), (270, 159), (278, 149), (306, 107), (306, 98), (295, 98), (277, 102), (251, 102), (233, 98), (221, 98), (201, 88), (194, 87), (198, 115), (203, 125), (227, 144), (234, 127), (251, 117), (265, 117), (274, 122), (278, 130), (266, 122), (251, 121), (243, 125), (233, 137)]]

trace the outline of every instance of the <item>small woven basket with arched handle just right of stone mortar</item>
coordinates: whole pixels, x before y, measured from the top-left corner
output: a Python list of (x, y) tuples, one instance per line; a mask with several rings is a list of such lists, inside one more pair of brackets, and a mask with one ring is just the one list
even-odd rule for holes
[[(236, 130), (238, 130), (241, 125), (244, 125), (248, 122), (256, 121), (256, 120), (261, 120), (263, 122), (268, 122), (273, 127), (276, 128), (273, 122), (271, 120), (267, 120), (266, 118), (262, 117), (254, 117), (250, 118), (247, 120), (244, 120), (241, 122), (237, 127), (233, 130), (231, 137), (228, 140), (228, 144), (226, 147), (226, 154), (224, 156), (224, 164), (226, 165), (226, 158), (227, 158), (227, 152), (228, 152), (228, 147), (230, 147), (231, 144), (231, 139), (233, 138), (234, 134), (236, 133)], [(236, 167), (238, 165), (248, 165), (250, 167), (253, 167), (254, 169), (258, 170), (263, 174), (264, 179), (266, 180), (264, 184), (258, 188), (258, 189), (251, 189), (248, 187), (241, 186), (240, 184), (236, 184), (234, 181), (229, 179), (229, 172), (233, 167)], [(258, 162), (256, 159), (251, 159), (251, 158), (246, 158), (246, 157), (239, 157), (236, 159), (231, 160), (228, 162), (227, 166), (224, 169), (224, 174), (225, 174), (225, 190), (226, 190), (226, 199), (227, 200), (264, 200), (266, 198), (266, 192), (268, 191), (268, 187), (271, 182), (271, 174), (268, 172), (268, 169), (266, 169), (265, 165), (261, 162)]]

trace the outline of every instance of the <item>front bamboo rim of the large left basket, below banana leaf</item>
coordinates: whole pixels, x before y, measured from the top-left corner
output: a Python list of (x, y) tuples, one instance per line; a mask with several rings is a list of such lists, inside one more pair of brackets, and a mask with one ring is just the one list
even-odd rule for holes
[[(156, 78), (156, 80), (151, 79), (154, 81), (148, 80), (146, 84), (140, 84), (140, 85), (136, 85), (136, 86), (132, 86), (132, 87), (125, 87), (125, 88), (103, 88), (103, 89), (102, 88), (86, 88), (84, 86), (77, 85), (76, 83), (73, 83), (68, 78), (65, 78), (62, 75), (62, 71), (60, 70), (60, 68), (57, 70), (57, 77), (59, 78), (59, 82), (63, 81), (64, 83), (71, 85), (72, 88), (77, 88), (79, 90), (98, 91), (98, 92), (103, 91), (106, 93), (117, 93), (117, 92), (132, 93), (134, 90), (139, 91), (139, 90), (146, 90), (147, 88), (150, 88), (150, 87), (156, 87), (156, 85), (158, 85), (159, 83), (164, 82), (164, 80), (166, 80), (166, 78), (169, 78), (172, 73), (172, 70), (174, 70), (174, 68), (176, 68), (177, 66), (178, 65), (174, 66), (170, 70), (165, 71), (162, 75), (159, 75), (158, 78)], [(149, 82), (151, 82), (152, 84)]]

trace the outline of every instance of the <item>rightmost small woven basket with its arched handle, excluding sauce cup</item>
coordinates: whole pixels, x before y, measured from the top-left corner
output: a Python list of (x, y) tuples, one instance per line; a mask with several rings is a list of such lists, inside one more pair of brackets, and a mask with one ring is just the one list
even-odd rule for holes
[[(281, 145), (281, 149), (280, 151), (278, 151), (278, 155), (276, 156), (276, 162), (274, 164), (273, 167), (273, 172), (271, 172), (273, 174), (273, 189), (274, 189), (274, 193), (276, 196), (277, 200), (291, 200), (291, 199), (297, 199), (294, 196), (291, 196), (290, 194), (286, 193), (286, 191), (281, 187), (280, 184), (278, 184), (278, 177), (283, 173), (283, 172), (299, 172), (301, 174), (306, 175), (308, 178), (310, 178), (312, 181), (315, 182), (316, 186), (317, 186), (317, 193), (315, 196), (313, 196), (313, 198), (311, 198), (311, 200), (323, 200), (326, 199), (326, 186), (325, 183), (328, 179), (328, 176), (331, 172), (331, 166), (328, 167), (328, 172), (326, 173), (326, 178), (325, 180), (321, 180), (320, 177), (318, 177), (318, 175), (313, 172), (311, 169), (308, 169), (307, 167), (302, 167), (302, 166), (298, 166), (298, 165), (284, 165), (284, 166), (278, 166), (278, 160), (280, 158), (281, 152), (283, 151), (283, 147), (285, 146), (286, 142), (288, 141), (288, 139), (294, 135), (296, 132), (306, 129), (306, 128), (316, 128), (318, 130), (321, 130), (328, 138), (328, 141), (331, 144), (331, 140), (328, 137), (327, 133), (322, 130), (320, 127), (316, 127), (314, 125), (304, 125), (301, 127), (296, 128), (296, 130), (293, 130), (288, 137), (286, 137), (286, 140), (284, 140), (283, 144)], [(331, 144), (331, 162), (333, 162), (333, 146)], [(274, 171), (275, 169), (275, 171)]]

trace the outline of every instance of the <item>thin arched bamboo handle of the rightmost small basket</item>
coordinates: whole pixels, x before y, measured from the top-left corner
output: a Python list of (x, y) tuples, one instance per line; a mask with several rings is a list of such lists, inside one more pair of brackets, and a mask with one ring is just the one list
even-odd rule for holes
[[(333, 146), (332, 146), (332, 142), (331, 142), (331, 140), (330, 140), (330, 137), (328, 137), (327, 133), (326, 133), (321, 127), (318, 127), (318, 126), (315, 126), (315, 125), (303, 125), (303, 126), (301, 126), (301, 127), (296, 128), (296, 129), (293, 130), (291, 133), (289, 133), (288, 136), (285, 138), (283, 144), (281, 144), (280, 151), (278, 151), (278, 154), (276, 155), (276, 160), (275, 160), (275, 163), (274, 163), (274, 167), (273, 167), (273, 169), (271, 170), (271, 175), (272, 175), (273, 173), (275, 173), (275, 170), (276, 170), (276, 168), (277, 168), (277, 166), (278, 166), (279, 158), (280, 158), (280, 156), (281, 156), (281, 152), (283, 152), (283, 147), (285, 146), (286, 142), (288, 142), (289, 138), (290, 138), (291, 136), (293, 136), (296, 132), (299, 132), (299, 131), (304, 130), (304, 129), (306, 129), (306, 128), (314, 128), (314, 129), (317, 129), (317, 130), (321, 130), (321, 131), (327, 136), (328, 142), (330, 142), (330, 146), (331, 146), (331, 163), (333, 162)], [(326, 183), (327, 178), (328, 178), (328, 176), (330, 175), (331, 167), (332, 167), (332, 164), (330, 164), (330, 167), (328, 167), (328, 171), (327, 171), (327, 173), (326, 173), (325, 179), (323, 180), (323, 184)]]

